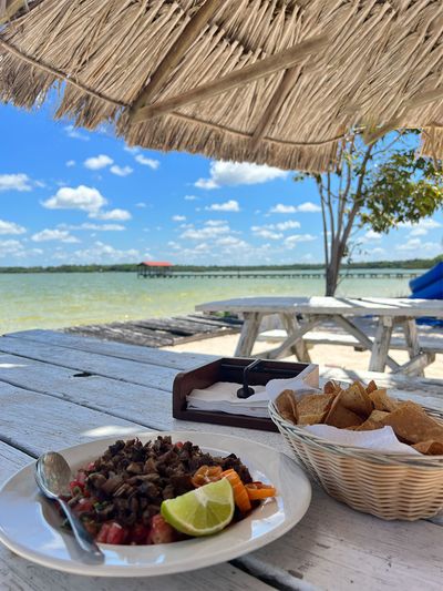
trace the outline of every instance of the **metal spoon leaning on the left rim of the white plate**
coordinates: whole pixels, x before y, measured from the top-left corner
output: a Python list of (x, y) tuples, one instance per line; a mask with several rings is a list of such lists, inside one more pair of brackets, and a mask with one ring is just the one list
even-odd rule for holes
[(59, 502), (70, 522), (75, 540), (87, 558), (94, 562), (103, 562), (104, 554), (86, 531), (82, 521), (71, 510), (63, 496), (69, 496), (69, 483), (72, 481), (72, 472), (66, 460), (55, 451), (48, 451), (37, 460), (35, 481), (45, 497)]

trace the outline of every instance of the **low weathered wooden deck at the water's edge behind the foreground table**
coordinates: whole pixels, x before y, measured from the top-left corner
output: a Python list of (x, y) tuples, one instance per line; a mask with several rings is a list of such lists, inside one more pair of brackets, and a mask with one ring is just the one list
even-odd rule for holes
[(146, 347), (167, 347), (239, 333), (243, 320), (235, 316), (220, 317), (203, 314), (174, 316), (172, 318), (147, 318), (142, 320), (116, 322), (71, 326), (64, 333), (90, 336), (103, 340), (117, 340)]

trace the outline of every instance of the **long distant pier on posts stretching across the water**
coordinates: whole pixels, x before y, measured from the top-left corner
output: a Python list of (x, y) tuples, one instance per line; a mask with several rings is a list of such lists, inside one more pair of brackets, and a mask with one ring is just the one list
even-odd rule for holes
[[(421, 275), (415, 272), (346, 272), (340, 274), (340, 278), (347, 279), (412, 279)], [(151, 274), (137, 274), (138, 277), (144, 279), (324, 279), (324, 273), (260, 273), (260, 272), (243, 272), (243, 271), (228, 271), (228, 272), (195, 272), (195, 273), (151, 273)]]

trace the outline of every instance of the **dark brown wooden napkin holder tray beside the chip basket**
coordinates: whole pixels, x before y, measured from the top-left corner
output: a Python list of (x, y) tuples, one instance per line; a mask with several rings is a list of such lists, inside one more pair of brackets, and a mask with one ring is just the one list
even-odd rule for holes
[[(277, 431), (270, 418), (248, 417), (246, 415), (230, 415), (213, 410), (195, 410), (187, 408), (187, 396), (196, 388), (205, 389), (217, 381), (243, 384), (244, 369), (254, 359), (240, 357), (223, 357), (189, 371), (177, 374), (173, 386), (173, 417), (197, 422), (214, 422), (247, 429)], [(250, 386), (266, 386), (271, 379), (297, 377), (309, 364), (262, 360), (259, 369), (249, 375)]]

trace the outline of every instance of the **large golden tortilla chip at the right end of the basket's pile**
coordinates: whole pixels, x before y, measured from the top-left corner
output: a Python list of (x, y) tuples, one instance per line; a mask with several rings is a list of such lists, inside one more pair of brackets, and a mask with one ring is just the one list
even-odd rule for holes
[(409, 444), (443, 442), (443, 426), (415, 403), (408, 401), (398, 406), (382, 424), (391, 426), (394, 434)]

